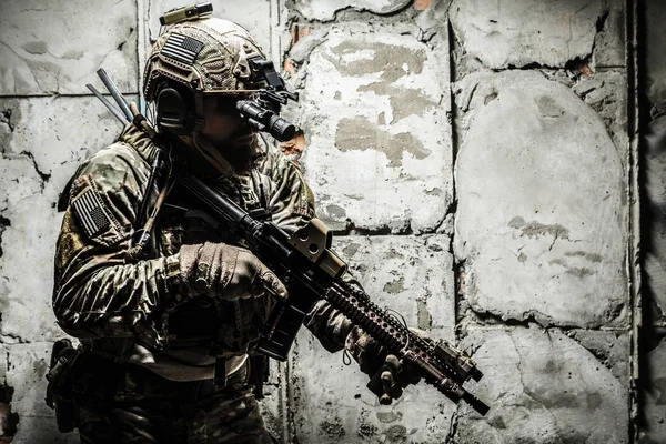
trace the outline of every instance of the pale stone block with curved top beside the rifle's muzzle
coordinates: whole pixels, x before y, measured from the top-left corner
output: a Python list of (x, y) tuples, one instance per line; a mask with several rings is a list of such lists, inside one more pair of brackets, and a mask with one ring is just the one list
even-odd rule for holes
[[(613, 334), (613, 333), (610, 333)], [(628, 443), (628, 391), (597, 359), (556, 331), (473, 331), (484, 377), (474, 387), (491, 410), (458, 410), (454, 442)]]

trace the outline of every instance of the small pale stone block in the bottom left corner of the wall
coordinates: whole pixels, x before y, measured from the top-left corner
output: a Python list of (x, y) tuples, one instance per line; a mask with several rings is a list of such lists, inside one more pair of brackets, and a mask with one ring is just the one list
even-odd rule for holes
[(54, 412), (44, 403), (46, 374), (51, 357), (50, 342), (3, 345), (6, 383), (14, 390), (12, 412), (18, 413), (18, 431), (12, 443), (78, 443), (78, 434), (58, 432)]

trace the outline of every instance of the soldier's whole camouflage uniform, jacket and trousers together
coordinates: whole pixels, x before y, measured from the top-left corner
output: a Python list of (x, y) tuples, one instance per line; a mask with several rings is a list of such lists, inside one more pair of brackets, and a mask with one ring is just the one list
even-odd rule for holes
[[(198, 174), (246, 210), (265, 208), (287, 232), (314, 215), (299, 168), (274, 147), (250, 174)], [(271, 442), (248, 385), (249, 353), (273, 301), (188, 297), (179, 250), (204, 241), (238, 243), (174, 186), (145, 258), (127, 262), (132, 225), (155, 154), (132, 124), (84, 162), (56, 253), (53, 309), (85, 347), (75, 369), (77, 425), (83, 442)], [(165, 175), (165, 174), (163, 174)], [(154, 202), (163, 176), (148, 190)], [(150, 205), (149, 205), (150, 206)], [(320, 302), (305, 325), (330, 351), (351, 325)], [(213, 384), (213, 377), (222, 380)], [(89, 440), (89, 441), (87, 441)]]

